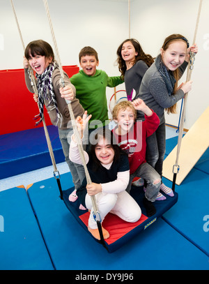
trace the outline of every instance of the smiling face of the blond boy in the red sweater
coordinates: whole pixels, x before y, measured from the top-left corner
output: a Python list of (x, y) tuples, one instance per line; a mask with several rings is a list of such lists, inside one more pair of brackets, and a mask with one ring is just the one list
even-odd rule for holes
[(126, 107), (125, 110), (121, 109), (118, 111), (117, 119), (115, 119), (118, 124), (119, 135), (126, 134), (134, 125), (134, 113), (130, 107)]

